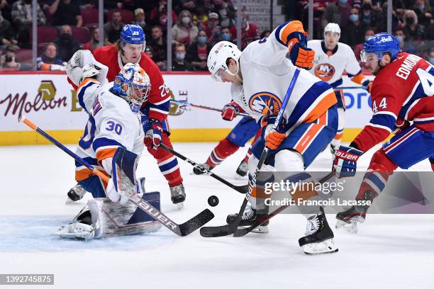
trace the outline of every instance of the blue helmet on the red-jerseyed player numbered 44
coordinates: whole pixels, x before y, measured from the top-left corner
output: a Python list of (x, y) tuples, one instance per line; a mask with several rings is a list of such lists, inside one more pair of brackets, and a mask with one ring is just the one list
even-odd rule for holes
[(396, 40), (394, 35), (389, 33), (378, 33), (363, 43), (363, 50), (360, 54), (360, 59), (363, 62), (366, 62), (367, 53), (375, 53), (380, 61), (382, 60), (384, 53), (389, 52), (391, 60), (393, 61), (398, 56), (399, 51), (399, 42)]

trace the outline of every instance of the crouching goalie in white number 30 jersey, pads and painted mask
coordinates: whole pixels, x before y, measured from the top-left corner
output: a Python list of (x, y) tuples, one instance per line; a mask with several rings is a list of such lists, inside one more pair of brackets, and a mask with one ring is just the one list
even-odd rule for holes
[[(94, 60), (89, 50), (79, 50), (67, 64), (67, 74), (78, 86), (80, 106), (89, 115), (76, 154), (107, 176), (115, 174), (113, 155), (118, 147), (135, 154), (143, 152), (143, 127), (138, 113), (150, 91), (148, 74), (138, 64), (126, 64), (114, 82), (101, 84), (106, 67)], [(161, 225), (128, 202), (109, 183), (76, 162), (75, 179), (89, 191), (89, 200), (73, 222), (57, 231), (60, 237), (92, 239), (118, 234), (153, 232)], [(144, 193), (137, 188), (137, 193)], [(160, 202), (159, 193), (143, 196), (152, 205)], [(107, 198), (108, 197), (108, 198)]]

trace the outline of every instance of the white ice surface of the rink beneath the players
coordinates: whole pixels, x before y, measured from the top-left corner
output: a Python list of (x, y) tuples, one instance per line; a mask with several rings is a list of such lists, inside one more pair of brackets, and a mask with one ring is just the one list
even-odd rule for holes
[[(214, 145), (174, 148), (204, 162)], [(245, 149), (238, 151), (213, 172), (245, 183), (235, 179), (244, 154)], [(371, 155), (362, 157), (360, 171)], [(433, 215), (369, 215), (357, 235), (335, 232), (339, 252), (321, 256), (306, 256), (299, 248), (306, 227), (302, 215), (278, 215), (269, 234), (241, 238), (206, 239), (199, 230), (177, 237), (163, 227), (148, 235), (79, 242), (50, 236), (84, 204), (65, 205), (75, 183), (73, 160), (54, 146), (0, 147), (0, 160), (0, 273), (54, 273), (55, 285), (46, 288), (434, 288)], [(182, 211), (170, 202), (167, 183), (147, 152), (138, 167), (147, 191), (161, 192), (162, 210), (175, 222), (210, 208), (216, 217), (208, 225), (223, 225), (228, 213), (238, 212), (243, 195), (179, 164), (187, 192)], [(330, 169), (329, 153), (311, 169)], [(412, 169), (430, 166), (427, 161)], [(220, 199), (215, 208), (207, 203), (211, 195)], [(334, 217), (328, 215), (331, 227)]]

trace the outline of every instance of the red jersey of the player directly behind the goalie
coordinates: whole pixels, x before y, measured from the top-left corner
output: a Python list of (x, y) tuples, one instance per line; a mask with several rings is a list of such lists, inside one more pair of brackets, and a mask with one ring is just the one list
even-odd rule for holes
[[(123, 68), (121, 53), (116, 50), (114, 45), (99, 47), (94, 51), (94, 57), (97, 61), (109, 67), (107, 79), (114, 81), (116, 75)], [(167, 118), (170, 108), (170, 91), (167, 84), (162, 78), (160, 69), (150, 57), (142, 52), (138, 59), (140, 67), (145, 69), (149, 75), (151, 89), (147, 101), (143, 103), (142, 113), (162, 122)]]

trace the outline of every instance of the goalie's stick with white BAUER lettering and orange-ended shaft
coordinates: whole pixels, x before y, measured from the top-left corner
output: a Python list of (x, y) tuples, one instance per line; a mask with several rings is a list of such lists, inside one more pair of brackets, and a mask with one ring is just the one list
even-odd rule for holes
[[(91, 170), (91, 172), (96, 174), (96, 176), (99, 176), (103, 181), (109, 182), (110, 179), (109, 176), (106, 176), (101, 171), (95, 169), (94, 166), (91, 166), (91, 164), (87, 163), (84, 159), (77, 156), (77, 154), (71, 152), (71, 150), (65, 147), (65, 145), (62, 145), (60, 142), (57, 142), (57, 140), (55, 140), (53, 137), (48, 135), (47, 132), (38, 128), (38, 126), (35, 125), (31, 120), (21, 115), (20, 121), (28, 125), (29, 128), (35, 130), (35, 132), (38, 132), (40, 135), (45, 137), (50, 142), (52, 142), (53, 145), (59, 147), (60, 149), (62, 149), (62, 151), (69, 154), (69, 156), (75, 159), (77, 162), (79, 162), (83, 166), (86, 166), (87, 169)], [(187, 222), (184, 222), (184, 224), (178, 225), (177, 223), (170, 220), (169, 217), (163, 214), (160, 210), (157, 210), (157, 208), (153, 207), (150, 203), (143, 200), (142, 198), (139, 198), (137, 194), (134, 194), (132, 197), (128, 196), (128, 198), (130, 199), (131, 202), (137, 205), (138, 208), (148, 213), (148, 215), (153, 216), (155, 220), (160, 222), (162, 225), (167, 227), (167, 229), (171, 230), (178, 236), (186, 236), (187, 234), (194, 232), (194, 230), (199, 229), (199, 227), (202, 227), (203, 225), (205, 225), (206, 222), (208, 222), (214, 217), (213, 213), (210, 210), (206, 209), (200, 212), (199, 215), (196, 215), (195, 217), (191, 218)]]

